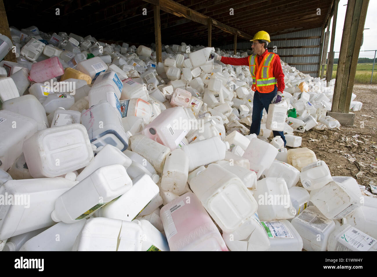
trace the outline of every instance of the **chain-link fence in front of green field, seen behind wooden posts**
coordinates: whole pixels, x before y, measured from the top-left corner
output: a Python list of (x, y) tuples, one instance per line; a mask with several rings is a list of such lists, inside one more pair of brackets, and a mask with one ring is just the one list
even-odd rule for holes
[[(327, 53), (328, 57), (329, 52)], [(377, 50), (360, 51), (359, 59), (357, 60), (355, 83), (356, 84), (377, 84)], [(334, 67), (333, 76), (336, 77), (336, 70), (338, 66), (339, 52), (334, 52)], [(327, 60), (326, 60), (327, 63)], [(326, 70), (326, 67), (325, 67)]]

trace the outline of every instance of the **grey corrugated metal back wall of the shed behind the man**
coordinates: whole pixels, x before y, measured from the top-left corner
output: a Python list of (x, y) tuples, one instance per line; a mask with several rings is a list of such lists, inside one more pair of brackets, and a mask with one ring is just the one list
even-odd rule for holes
[[(271, 42), (268, 44), (268, 51), (275, 52), (280, 56), (291, 56), (291, 57), (281, 57), (281, 59), (288, 64), (296, 67), (301, 72), (315, 71), (315, 73), (309, 73), (312, 77), (318, 77), (317, 71), (319, 66), (319, 53), (320, 47), (313, 48), (288, 48), (281, 49), (281, 47), (293, 47), (293, 46), (316, 46), (320, 45), (322, 35), (322, 28), (308, 29), (304, 31), (292, 32), (288, 34), (275, 35), (271, 37)], [(296, 37), (314, 37), (310, 39), (299, 39), (299, 40), (276, 40), (277, 38), (296, 38)], [(233, 44), (227, 44), (223, 46), (218, 46), (220, 49), (233, 49)], [(241, 42), (237, 43), (237, 49), (244, 50), (251, 49), (251, 42)], [(307, 57), (292, 57), (293, 55), (317, 55), (317, 56), (307, 56)], [(295, 63), (307, 63), (307, 64), (295, 64)], [(308, 64), (316, 63), (316, 64)]]

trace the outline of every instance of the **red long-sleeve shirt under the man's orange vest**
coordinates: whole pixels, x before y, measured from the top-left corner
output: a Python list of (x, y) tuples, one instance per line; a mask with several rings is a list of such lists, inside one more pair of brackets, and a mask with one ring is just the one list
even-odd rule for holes
[[(268, 51), (266, 49), (266, 51), (262, 54), (262, 56), (257, 55), (258, 64), (261, 64), (263, 57), (267, 55), (267, 53)], [(221, 62), (224, 64), (230, 64), (232, 66), (250, 66), (249, 57), (245, 57), (245, 58), (221, 57)], [(277, 54), (275, 56), (272, 70), (273, 70), (274, 77), (276, 78), (276, 81), (277, 81), (277, 91), (280, 91), (281, 93), (283, 93), (283, 90), (285, 89), (284, 73), (283, 73), (282, 66), (280, 64), (280, 57)]]

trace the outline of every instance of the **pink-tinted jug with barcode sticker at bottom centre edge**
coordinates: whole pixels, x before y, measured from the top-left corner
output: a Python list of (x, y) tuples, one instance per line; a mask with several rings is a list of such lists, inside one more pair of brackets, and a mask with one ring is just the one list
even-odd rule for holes
[(185, 193), (164, 205), (160, 214), (170, 251), (228, 251), (194, 193)]

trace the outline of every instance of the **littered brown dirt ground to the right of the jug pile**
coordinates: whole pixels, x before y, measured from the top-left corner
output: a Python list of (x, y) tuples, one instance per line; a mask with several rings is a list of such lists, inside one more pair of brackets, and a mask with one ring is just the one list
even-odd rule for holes
[(313, 150), (333, 176), (351, 176), (371, 191), (370, 185), (377, 185), (377, 85), (355, 84), (353, 92), (355, 101), (363, 103), (362, 109), (354, 112), (353, 126), (311, 129), (298, 135), (302, 137), (301, 147)]

